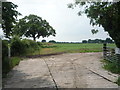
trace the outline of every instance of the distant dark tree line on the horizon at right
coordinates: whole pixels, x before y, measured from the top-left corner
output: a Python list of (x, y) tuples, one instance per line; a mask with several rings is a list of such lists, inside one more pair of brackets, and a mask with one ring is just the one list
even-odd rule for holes
[(114, 43), (114, 41), (110, 38), (106, 38), (106, 40), (102, 39), (88, 39), (88, 40), (82, 40), (82, 43)]

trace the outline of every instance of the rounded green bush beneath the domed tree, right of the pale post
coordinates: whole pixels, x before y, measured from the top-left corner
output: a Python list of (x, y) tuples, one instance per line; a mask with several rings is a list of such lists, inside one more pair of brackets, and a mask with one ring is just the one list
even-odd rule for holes
[(13, 37), (11, 39), (11, 54), (12, 56), (27, 55), (29, 53), (39, 50), (40, 45), (37, 42), (29, 39), (19, 39), (19, 37)]

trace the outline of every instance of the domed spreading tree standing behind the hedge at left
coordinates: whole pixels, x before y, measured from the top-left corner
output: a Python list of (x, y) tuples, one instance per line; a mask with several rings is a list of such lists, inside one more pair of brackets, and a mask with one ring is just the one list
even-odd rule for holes
[(42, 20), (37, 15), (30, 14), (20, 19), (14, 27), (13, 35), (32, 37), (33, 40), (36, 38), (48, 37), (50, 35), (55, 36), (55, 30), (46, 20)]

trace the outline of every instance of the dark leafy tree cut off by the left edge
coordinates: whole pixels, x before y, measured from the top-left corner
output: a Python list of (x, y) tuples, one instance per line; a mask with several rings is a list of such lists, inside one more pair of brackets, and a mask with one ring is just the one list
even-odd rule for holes
[(6, 38), (10, 38), (17, 16), (21, 15), (16, 10), (17, 7), (12, 2), (2, 2), (2, 29)]

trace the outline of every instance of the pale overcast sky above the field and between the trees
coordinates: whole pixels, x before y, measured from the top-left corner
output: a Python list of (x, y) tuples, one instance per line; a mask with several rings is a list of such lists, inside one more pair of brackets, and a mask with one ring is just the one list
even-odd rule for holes
[[(46, 19), (56, 30), (56, 37), (44, 38), (47, 41), (72, 41), (79, 42), (84, 39), (106, 39), (109, 37), (103, 28), (99, 28), (99, 33), (93, 35), (89, 24), (89, 19), (83, 15), (78, 16), (79, 8), (69, 9), (68, 3), (74, 0), (8, 0), (18, 5), (17, 10), (22, 14), (22, 18), (29, 14), (35, 14)], [(38, 39), (41, 41), (43, 38)]]

